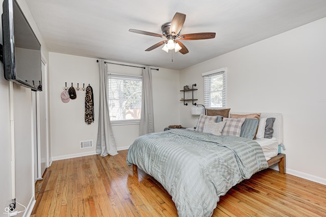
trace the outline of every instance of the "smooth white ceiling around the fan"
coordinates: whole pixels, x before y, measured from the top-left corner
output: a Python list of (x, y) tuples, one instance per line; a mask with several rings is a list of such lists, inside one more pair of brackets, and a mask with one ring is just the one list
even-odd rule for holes
[[(52, 52), (183, 69), (326, 17), (325, 0), (26, 0)], [(189, 53), (145, 51), (161, 41), (129, 29), (161, 34), (176, 12), (186, 14), (181, 34), (215, 32), (182, 41)], [(326, 27), (326, 26), (325, 26)]]

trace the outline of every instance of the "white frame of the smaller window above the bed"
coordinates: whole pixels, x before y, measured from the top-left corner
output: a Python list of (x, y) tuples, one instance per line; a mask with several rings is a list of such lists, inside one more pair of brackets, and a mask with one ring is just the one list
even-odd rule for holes
[[(209, 93), (206, 93), (207, 87), (206, 87), (205, 78), (207, 76), (214, 76), (214, 74), (215, 75), (220, 75), (220, 74), (223, 75), (222, 107), (211, 106), (210, 99), (207, 98), (209, 96)], [(227, 67), (204, 72), (204, 73), (202, 73), (202, 76), (203, 76), (203, 83), (204, 83), (204, 105), (205, 105), (205, 107), (212, 108), (212, 109), (226, 108), (227, 107)]]

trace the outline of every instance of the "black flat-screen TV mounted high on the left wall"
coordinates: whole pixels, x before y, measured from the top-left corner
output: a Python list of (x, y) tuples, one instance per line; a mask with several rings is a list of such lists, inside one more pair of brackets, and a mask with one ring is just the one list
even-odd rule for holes
[(42, 91), (41, 44), (15, 0), (4, 0), (3, 63), (7, 80)]

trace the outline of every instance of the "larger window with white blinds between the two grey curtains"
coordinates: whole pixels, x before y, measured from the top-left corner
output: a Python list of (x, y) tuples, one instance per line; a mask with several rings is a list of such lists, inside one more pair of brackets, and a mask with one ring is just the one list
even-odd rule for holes
[(141, 102), (141, 76), (107, 74), (107, 103), (113, 123), (139, 122)]

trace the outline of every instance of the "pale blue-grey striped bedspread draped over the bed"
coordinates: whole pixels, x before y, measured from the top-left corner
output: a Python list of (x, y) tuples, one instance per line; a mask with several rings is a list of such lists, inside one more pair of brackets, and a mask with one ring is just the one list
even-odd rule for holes
[(220, 196), (268, 167), (254, 140), (171, 129), (137, 138), (127, 164), (159, 181), (179, 216), (211, 216)]

